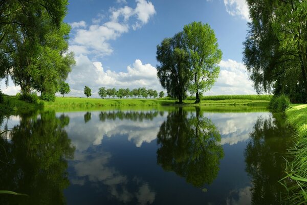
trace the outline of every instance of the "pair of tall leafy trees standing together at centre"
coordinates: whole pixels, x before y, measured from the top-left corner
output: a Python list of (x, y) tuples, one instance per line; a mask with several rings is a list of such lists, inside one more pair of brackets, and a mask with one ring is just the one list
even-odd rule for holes
[(214, 31), (208, 24), (192, 22), (157, 46), (157, 75), (162, 87), (180, 103), (187, 91), (195, 93), (195, 103), (200, 103), (201, 93), (218, 77), (221, 59)]

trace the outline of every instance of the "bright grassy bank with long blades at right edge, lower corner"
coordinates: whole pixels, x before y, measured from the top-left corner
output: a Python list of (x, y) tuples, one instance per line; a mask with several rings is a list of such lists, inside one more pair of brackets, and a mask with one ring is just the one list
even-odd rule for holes
[(295, 146), (290, 150), (287, 177), (282, 181), (289, 191), (292, 204), (307, 203), (307, 105), (294, 105), (286, 110), (288, 123), (296, 130)]

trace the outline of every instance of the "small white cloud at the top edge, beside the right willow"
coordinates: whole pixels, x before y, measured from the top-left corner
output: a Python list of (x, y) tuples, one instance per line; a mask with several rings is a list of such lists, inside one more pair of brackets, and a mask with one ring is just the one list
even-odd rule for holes
[(224, 0), (226, 11), (249, 21), (249, 11), (245, 0)]

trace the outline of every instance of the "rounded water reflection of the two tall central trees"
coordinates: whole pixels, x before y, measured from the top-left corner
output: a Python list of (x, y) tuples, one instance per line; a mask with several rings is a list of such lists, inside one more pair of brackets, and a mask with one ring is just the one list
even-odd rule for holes
[(196, 115), (179, 108), (169, 113), (158, 132), (157, 162), (201, 188), (216, 178), (224, 151), (221, 135), (200, 109)]

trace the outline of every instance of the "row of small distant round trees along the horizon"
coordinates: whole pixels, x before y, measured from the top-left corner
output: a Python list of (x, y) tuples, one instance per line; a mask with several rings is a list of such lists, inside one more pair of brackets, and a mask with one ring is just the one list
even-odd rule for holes
[[(85, 86), (84, 87), (84, 95), (86, 95), (86, 97), (90, 97), (92, 95), (92, 89), (90, 89), (89, 87)], [(135, 88), (133, 90), (130, 91), (129, 88), (120, 88), (118, 90), (116, 90), (116, 88), (109, 88), (109, 89), (106, 89), (105, 87), (101, 87), (99, 88), (99, 91), (98, 91), (98, 95), (101, 97), (101, 98), (105, 98), (105, 97), (108, 97), (108, 98), (111, 98), (111, 97), (118, 97), (118, 98), (128, 98), (128, 97), (131, 97), (131, 98), (140, 98), (140, 97), (143, 97), (143, 98), (147, 98), (147, 97), (153, 97), (153, 98), (156, 98), (158, 97), (158, 92), (156, 90), (152, 90), (152, 89), (146, 89), (145, 87), (142, 87), (142, 88)], [(164, 97), (164, 92), (161, 91), (159, 93), (159, 97)]]

